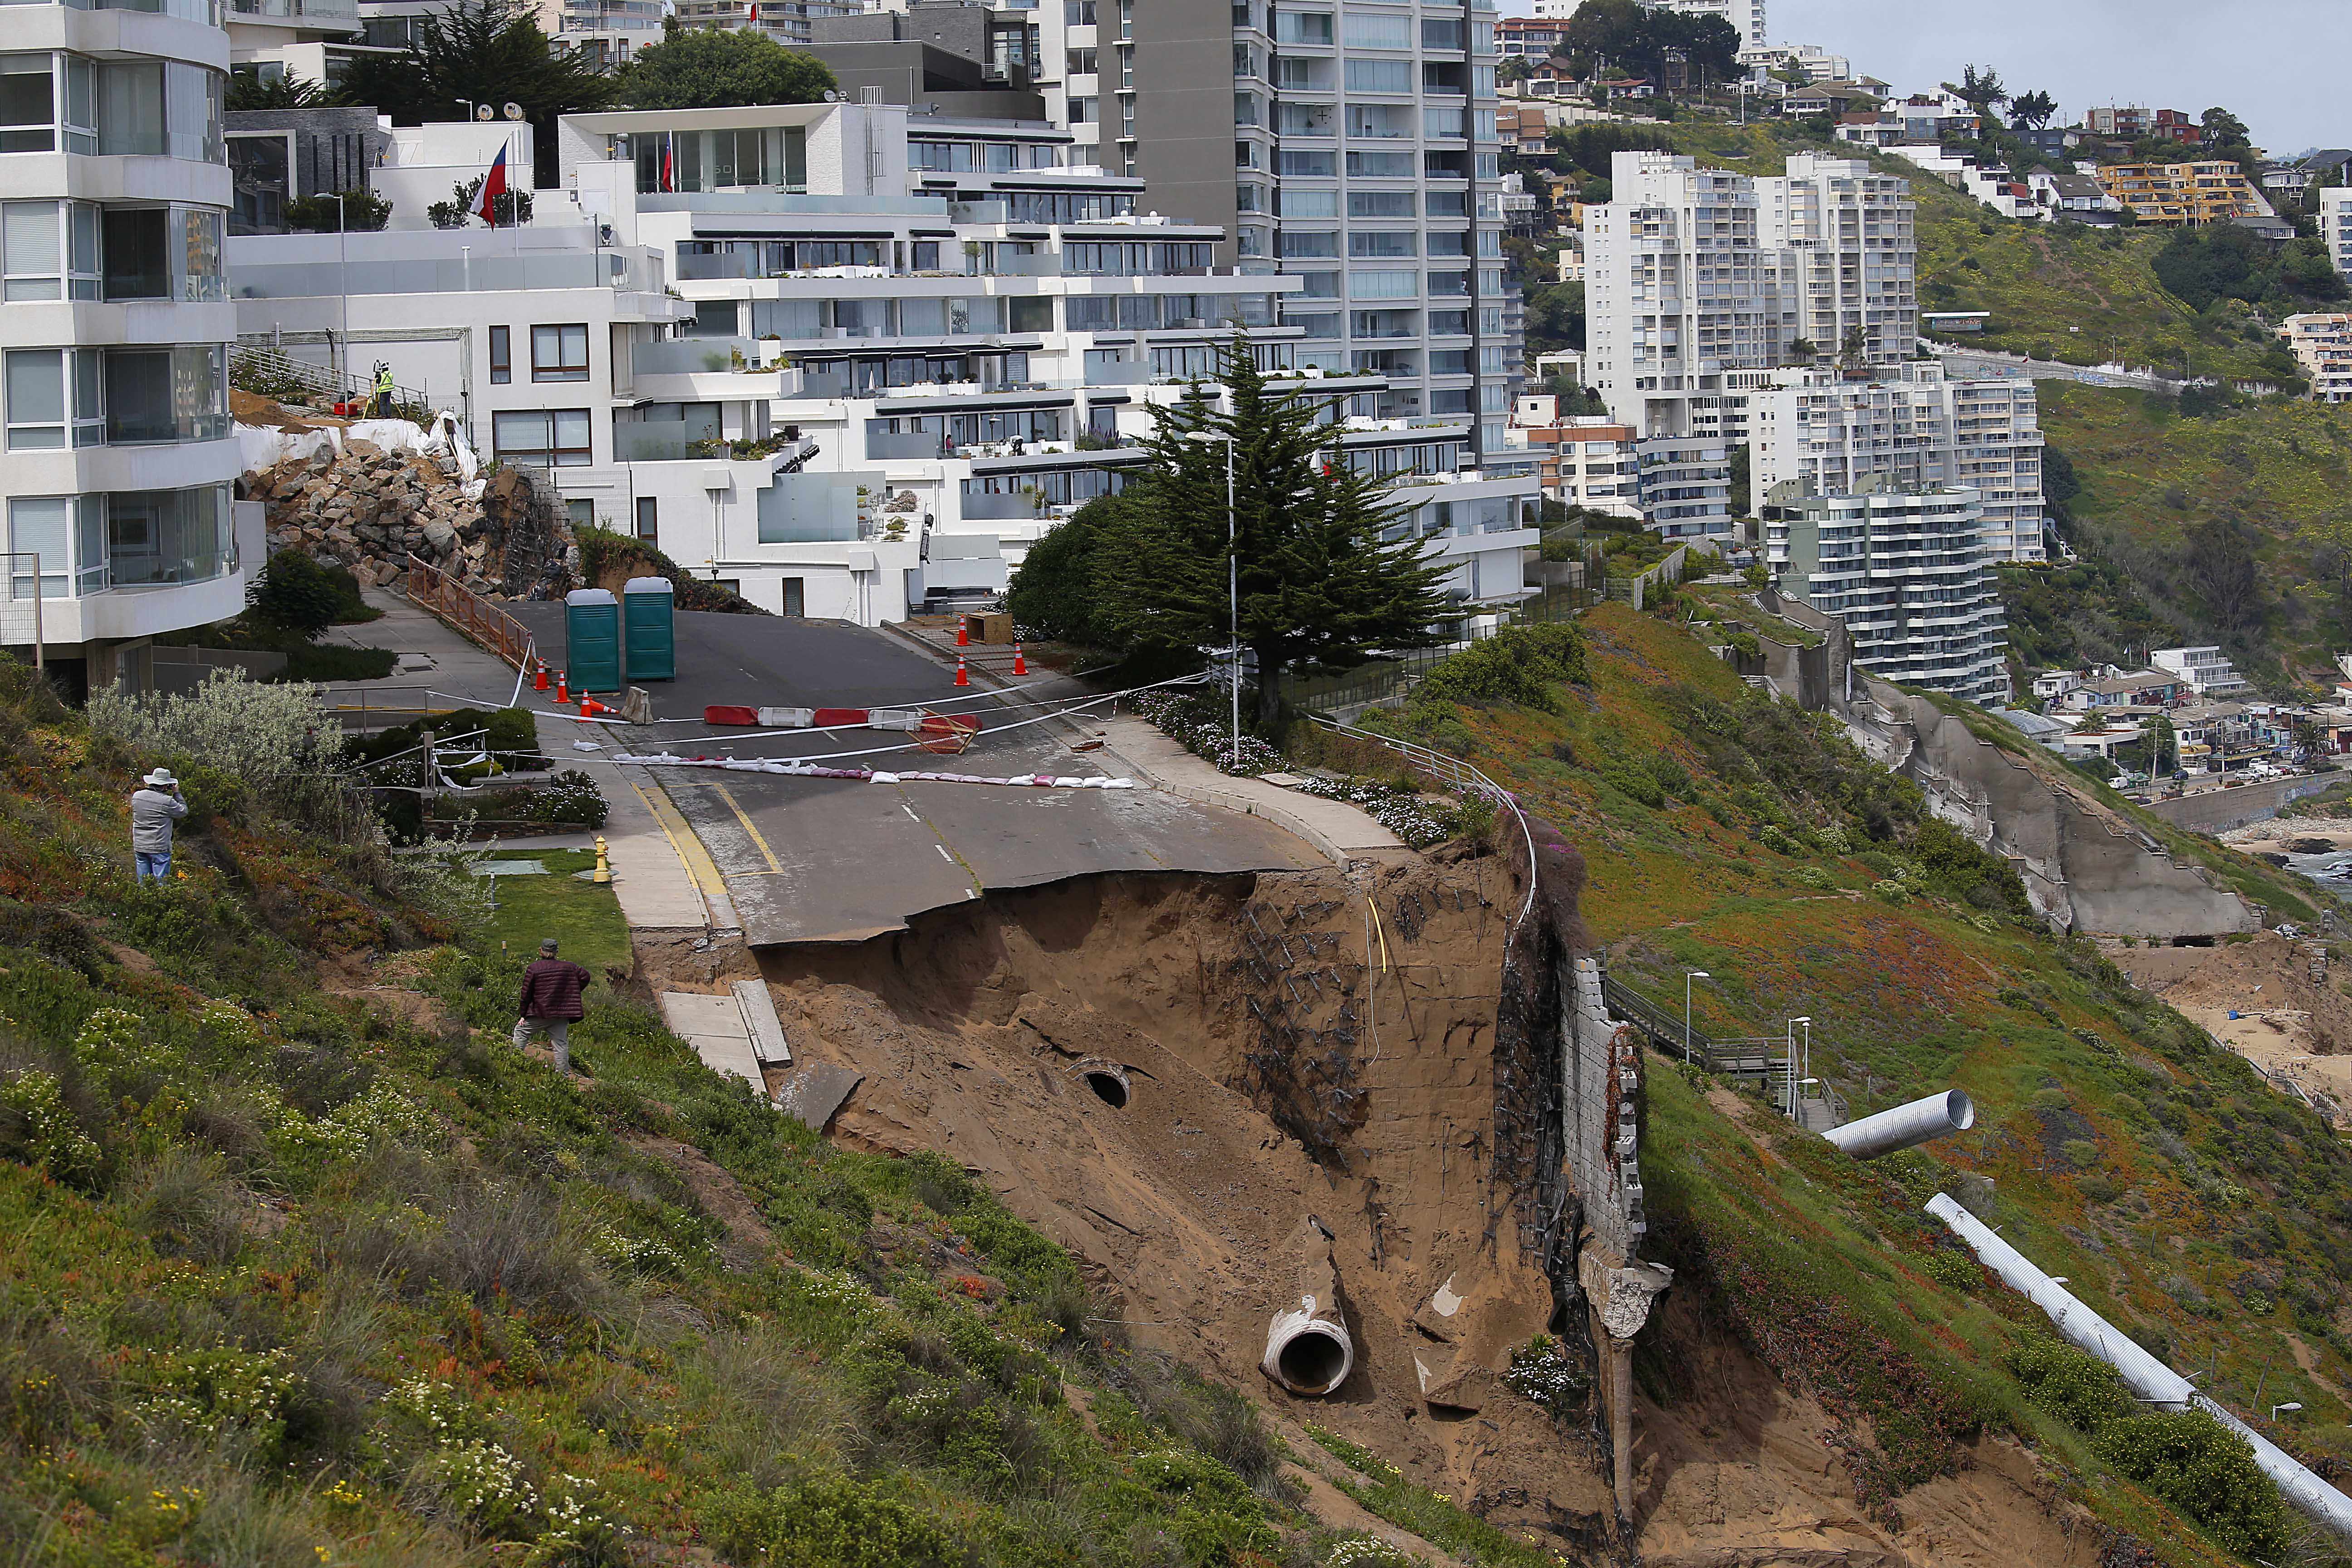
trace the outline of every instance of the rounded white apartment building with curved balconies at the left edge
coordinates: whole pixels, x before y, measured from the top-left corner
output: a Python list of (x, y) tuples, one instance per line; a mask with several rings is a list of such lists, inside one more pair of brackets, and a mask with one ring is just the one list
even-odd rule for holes
[(261, 548), (230, 501), (228, 31), (212, 0), (5, 14), (0, 642), (38, 595), (52, 661), (141, 684), (136, 649), (235, 616)]

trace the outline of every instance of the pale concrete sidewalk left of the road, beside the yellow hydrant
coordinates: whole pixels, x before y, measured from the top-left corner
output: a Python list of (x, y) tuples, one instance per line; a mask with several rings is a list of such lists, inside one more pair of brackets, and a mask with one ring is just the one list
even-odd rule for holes
[[(365, 703), (369, 693), (390, 703), (395, 693), (419, 689), (477, 708), (506, 708), (517, 701), (515, 668), (503, 658), (475, 646), (437, 616), (383, 588), (369, 588), (365, 597), (383, 611), (383, 618), (367, 625), (339, 625), (332, 639), (393, 649), (395, 654), (423, 654), (433, 661), (433, 670), (393, 675), (381, 682), (336, 684), (339, 703)], [(546, 701), (546, 693), (532, 691), (529, 682), (522, 684), (520, 703), (539, 717), (539, 750), (555, 762), (557, 771), (579, 769), (604, 795), (609, 806), (604, 849), (612, 863), (612, 889), (630, 929), (736, 929), (741, 922), (727, 900), (727, 882), (677, 806), (661, 792), (661, 783), (647, 769), (604, 762), (609, 752), (628, 750), (621, 731), (564, 717)], [(576, 750), (576, 743), (597, 750), (583, 752)]]

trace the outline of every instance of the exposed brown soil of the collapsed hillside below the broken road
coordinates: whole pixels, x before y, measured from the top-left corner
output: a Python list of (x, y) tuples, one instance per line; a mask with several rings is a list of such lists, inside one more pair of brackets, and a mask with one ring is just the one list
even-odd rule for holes
[[(1367, 893), (1381, 912), (1369, 966)], [(1606, 1561), (1592, 1554), (1611, 1500), (1588, 1422), (1555, 1422), (1494, 1378), (1552, 1309), (1548, 1281), (1519, 1255), (1517, 1218), (1489, 1213), (1512, 907), (1491, 863), (1105, 877), (995, 893), (856, 947), (764, 950), (760, 966), (802, 1060), (868, 1074), (835, 1138), (934, 1147), (988, 1180), (1089, 1265), (1134, 1338), (1268, 1408), (1315, 1472), (1308, 1500), (1329, 1526), (1446, 1561), (1331, 1486), (1343, 1467), (1305, 1436), (1310, 1420), (1515, 1535)], [(1338, 1067), (1291, 1063), (1270, 1081), (1251, 1013), (1265, 994), (1251, 957), (1268, 945), (1251, 940), (1251, 912), (1298, 954), (1294, 985), (1310, 969), (1329, 976), (1319, 1011), (1303, 1001), (1301, 1013), (1334, 1025), (1345, 999), (1362, 1020), (1352, 1041), (1317, 1046), (1345, 1058)], [(1124, 1072), (1124, 1107), (1089, 1084), (1105, 1070)], [(1348, 1098), (1331, 1088), (1362, 1098), (1305, 1128), (1331, 1140), (1317, 1159), (1284, 1121), (1296, 1128), (1303, 1110)], [(1308, 1213), (1336, 1237), (1357, 1347), (1355, 1375), (1319, 1401), (1258, 1371)], [(1463, 1316), (1477, 1321), (1451, 1331), (1479, 1366), (1463, 1394), (1475, 1408), (1432, 1408), (1414, 1366), (1416, 1352), (1444, 1352), (1414, 1316), (1449, 1281), (1475, 1302)], [(1696, 1312), (1665, 1314), (1658, 1333), (1675, 1340), (1670, 1356), (1703, 1368), (1700, 1392), (1675, 1408), (1644, 1403), (1635, 1420), (1644, 1563), (2096, 1561), (2032, 1458), (2002, 1443), (1985, 1443), (1971, 1472), (1900, 1497), (1900, 1530), (1872, 1523), (1837, 1422), (1738, 1345), (1682, 1342), (1689, 1324)]]

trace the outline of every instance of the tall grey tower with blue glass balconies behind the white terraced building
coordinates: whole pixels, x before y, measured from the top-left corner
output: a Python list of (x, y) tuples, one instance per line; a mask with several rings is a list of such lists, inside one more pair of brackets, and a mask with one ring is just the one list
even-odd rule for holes
[(1472, 456), (1510, 463), (1494, 0), (997, 9), (1030, 19), (1075, 162), (1218, 228), (1221, 266), (1301, 277), (1279, 306), (1298, 367), (1376, 376), (1374, 416), (1468, 423)]

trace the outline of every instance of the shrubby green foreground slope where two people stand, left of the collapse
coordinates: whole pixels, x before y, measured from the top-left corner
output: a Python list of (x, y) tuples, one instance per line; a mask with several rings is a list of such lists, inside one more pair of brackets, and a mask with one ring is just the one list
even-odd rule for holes
[(252, 806), (139, 891), (146, 759), (49, 719), (0, 703), (26, 1561), (619, 1563), (607, 1526), (630, 1561), (1308, 1549), (1235, 1469), (1272, 1474), (1247, 1408), (1098, 1338), (1070, 1258), (953, 1166), (830, 1150), (602, 987), (593, 1086), (503, 1048), (499, 936), (593, 950), (607, 891), (421, 914)]

